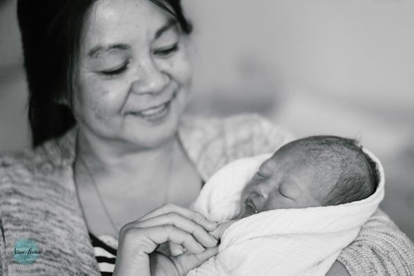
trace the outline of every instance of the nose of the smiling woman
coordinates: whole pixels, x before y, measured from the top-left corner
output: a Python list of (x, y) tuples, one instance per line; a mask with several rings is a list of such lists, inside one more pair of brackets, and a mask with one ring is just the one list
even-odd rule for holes
[(159, 94), (166, 88), (169, 79), (168, 75), (148, 58), (137, 65), (136, 79), (132, 82), (131, 89), (137, 94)]

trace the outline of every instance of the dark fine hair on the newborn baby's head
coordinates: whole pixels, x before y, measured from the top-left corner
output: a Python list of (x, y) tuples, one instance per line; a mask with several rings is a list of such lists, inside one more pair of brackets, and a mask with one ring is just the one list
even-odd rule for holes
[(378, 181), (375, 163), (357, 140), (319, 135), (293, 141), (290, 146), (298, 147), (304, 161), (318, 166), (321, 169), (318, 173), (334, 182), (328, 193), (326, 187), (318, 187), (326, 195), (324, 206), (365, 199), (375, 192)]

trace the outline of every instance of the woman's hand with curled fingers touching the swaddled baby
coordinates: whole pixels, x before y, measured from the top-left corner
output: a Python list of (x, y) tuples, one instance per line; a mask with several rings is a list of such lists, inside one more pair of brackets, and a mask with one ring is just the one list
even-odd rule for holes
[[(208, 234), (216, 228), (217, 223), (193, 210), (166, 204), (121, 228), (113, 275), (186, 275), (217, 254), (217, 240)], [(180, 244), (187, 252), (150, 256), (164, 242)]]

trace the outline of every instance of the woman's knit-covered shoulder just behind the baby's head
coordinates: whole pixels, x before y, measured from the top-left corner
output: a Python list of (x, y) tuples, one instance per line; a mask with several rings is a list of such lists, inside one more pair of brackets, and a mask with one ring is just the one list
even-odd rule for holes
[(186, 117), (179, 135), (205, 179), (230, 161), (273, 152), (293, 139), (288, 130), (257, 114)]

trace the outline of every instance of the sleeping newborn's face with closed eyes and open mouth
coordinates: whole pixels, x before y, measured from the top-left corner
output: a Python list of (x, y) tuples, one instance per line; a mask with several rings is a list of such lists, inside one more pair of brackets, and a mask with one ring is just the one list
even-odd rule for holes
[(242, 192), (238, 218), (266, 210), (322, 206), (317, 172), (295, 152), (282, 148), (264, 161)]

